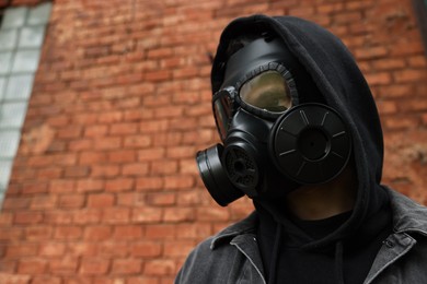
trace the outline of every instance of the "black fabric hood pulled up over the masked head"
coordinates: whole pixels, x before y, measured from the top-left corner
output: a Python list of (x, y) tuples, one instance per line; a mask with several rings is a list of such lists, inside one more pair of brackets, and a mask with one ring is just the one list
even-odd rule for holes
[(272, 31), (310, 73), (326, 104), (346, 120), (353, 137), (358, 191), (349, 218), (320, 247), (348, 237), (386, 203), (380, 186), (383, 164), (383, 137), (371, 91), (349, 50), (339, 38), (323, 27), (292, 16), (253, 15), (231, 22), (223, 31), (212, 66), (212, 92), (223, 81), (226, 50), (231, 38), (254, 31)]

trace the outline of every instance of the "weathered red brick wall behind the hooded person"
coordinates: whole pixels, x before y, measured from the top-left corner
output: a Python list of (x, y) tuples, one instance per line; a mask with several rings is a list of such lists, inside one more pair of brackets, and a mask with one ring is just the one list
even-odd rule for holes
[(244, 14), (303, 16), (343, 38), (383, 119), (384, 182), (427, 203), (411, 2), (55, 1), (0, 214), (0, 282), (171, 283), (199, 240), (251, 211), (217, 206), (194, 161), (218, 142), (207, 54)]

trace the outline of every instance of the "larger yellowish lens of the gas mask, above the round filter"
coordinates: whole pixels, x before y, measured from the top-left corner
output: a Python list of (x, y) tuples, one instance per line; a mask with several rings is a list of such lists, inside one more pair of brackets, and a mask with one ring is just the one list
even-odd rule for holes
[(253, 107), (282, 113), (292, 106), (285, 78), (277, 71), (266, 71), (249, 80), (240, 88), (240, 98)]

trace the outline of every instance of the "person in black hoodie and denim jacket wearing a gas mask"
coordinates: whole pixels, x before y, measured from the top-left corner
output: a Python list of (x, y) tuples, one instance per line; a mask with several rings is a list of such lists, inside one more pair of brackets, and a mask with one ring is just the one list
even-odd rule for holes
[(427, 283), (427, 209), (382, 186), (383, 138), (343, 43), (291, 16), (222, 32), (212, 64), (221, 144), (197, 153), (220, 205), (254, 213), (199, 244), (175, 283)]

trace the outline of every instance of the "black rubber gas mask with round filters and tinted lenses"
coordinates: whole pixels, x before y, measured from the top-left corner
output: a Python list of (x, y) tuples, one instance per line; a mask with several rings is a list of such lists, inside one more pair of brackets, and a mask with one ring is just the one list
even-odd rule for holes
[(238, 50), (223, 79), (212, 97), (223, 144), (196, 155), (218, 204), (244, 194), (280, 198), (345, 168), (351, 152), (345, 121), (279, 38), (258, 38)]

